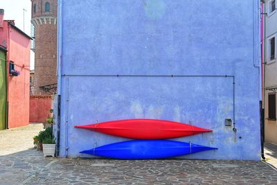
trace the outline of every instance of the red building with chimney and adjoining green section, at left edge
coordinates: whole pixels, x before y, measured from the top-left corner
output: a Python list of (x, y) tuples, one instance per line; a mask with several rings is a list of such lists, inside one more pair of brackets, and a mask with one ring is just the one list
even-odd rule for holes
[(0, 9), (0, 130), (29, 124), (31, 39)]

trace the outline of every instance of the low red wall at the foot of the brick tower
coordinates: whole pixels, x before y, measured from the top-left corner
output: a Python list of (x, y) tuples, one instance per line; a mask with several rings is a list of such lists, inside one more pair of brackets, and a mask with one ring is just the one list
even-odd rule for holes
[(38, 95), (30, 96), (30, 122), (41, 123), (51, 115), (52, 105), (51, 96)]

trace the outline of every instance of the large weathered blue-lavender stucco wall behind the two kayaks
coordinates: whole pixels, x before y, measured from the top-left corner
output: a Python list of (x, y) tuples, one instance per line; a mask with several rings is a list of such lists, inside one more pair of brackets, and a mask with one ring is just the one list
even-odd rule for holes
[[(181, 158), (260, 159), (258, 1), (63, 0), (59, 8), (60, 157), (93, 157), (79, 152), (127, 140), (74, 125), (157, 118), (213, 130), (174, 140), (219, 150)], [(236, 133), (224, 125), (233, 107)]]

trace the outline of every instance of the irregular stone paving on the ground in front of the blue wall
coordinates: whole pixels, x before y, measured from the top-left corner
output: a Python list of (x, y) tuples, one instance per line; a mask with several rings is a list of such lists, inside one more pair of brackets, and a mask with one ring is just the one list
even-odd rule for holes
[[(33, 132), (24, 134), (32, 138)], [(277, 148), (268, 146), (272, 162)], [(276, 169), (265, 161), (57, 159), (32, 147), (7, 155), (1, 147), (0, 184), (277, 184)]]

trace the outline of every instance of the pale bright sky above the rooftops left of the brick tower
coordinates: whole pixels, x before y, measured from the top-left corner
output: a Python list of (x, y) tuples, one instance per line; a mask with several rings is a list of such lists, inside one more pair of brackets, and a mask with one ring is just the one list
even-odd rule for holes
[[(24, 32), (27, 35), (30, 35), (30, 19), (31, 19), (31, 6), (32, 3), (30, 0), (0, 0), (0, 8), (5, 10), (4, 19), (5, 20), (15, 20), (15, 26)], [(23, 12), (24, 10), (23, 19)], [(25, 26), (24, 26), (25, 22)], [(30, 69), (34, 68), (34, 53), (30, 51)]]

